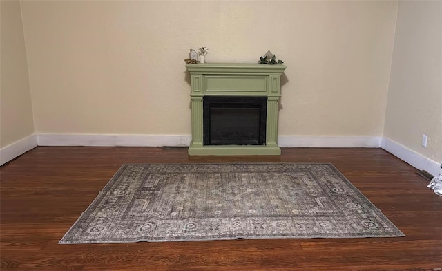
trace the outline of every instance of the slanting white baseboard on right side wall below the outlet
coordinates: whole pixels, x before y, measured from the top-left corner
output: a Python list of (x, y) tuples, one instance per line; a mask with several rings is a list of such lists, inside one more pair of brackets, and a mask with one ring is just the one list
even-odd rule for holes
[(439, 175), (440, 165), (438, 162), (430, 160), (425, 156), (422, 156), (416, 151), (412, 151), (407, 147), (398, 144), (388, 138), (382, 139), (381, 148), (385, 149), (389, 153), (392, 153), (397, 158), (407, 162), (408, 164), (416, 167), (416, 169), (425, 170), (432, 174), (433, 176)]

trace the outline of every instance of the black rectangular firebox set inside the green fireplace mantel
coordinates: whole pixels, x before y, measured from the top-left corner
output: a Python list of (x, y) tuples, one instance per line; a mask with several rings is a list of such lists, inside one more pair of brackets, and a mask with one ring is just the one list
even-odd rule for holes
[(211, 97), (203, 100), (204, 145), (264, 145), (267, 97)]

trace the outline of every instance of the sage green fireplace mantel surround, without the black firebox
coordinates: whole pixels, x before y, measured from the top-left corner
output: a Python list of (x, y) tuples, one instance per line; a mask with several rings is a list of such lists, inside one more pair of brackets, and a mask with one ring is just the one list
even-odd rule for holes
[[(287, 66), (205, 63), (186, 65), (191, 74), (192, 141), (189, 156), (279, 156), (278, 102), (280, 78)], [(206, 146), (203, 144), (204, 96), (267, 97), (265, 145)]]

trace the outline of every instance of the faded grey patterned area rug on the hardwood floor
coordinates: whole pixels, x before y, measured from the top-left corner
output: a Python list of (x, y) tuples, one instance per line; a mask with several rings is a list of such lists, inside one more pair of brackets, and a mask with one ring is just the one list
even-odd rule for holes
[(122, 165), (59, 241), (404, 236), (332, 164)]

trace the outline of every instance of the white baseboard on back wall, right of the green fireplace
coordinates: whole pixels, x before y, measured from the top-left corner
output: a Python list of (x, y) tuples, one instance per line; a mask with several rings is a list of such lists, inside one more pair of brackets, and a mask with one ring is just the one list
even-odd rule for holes
[(278, 136), (279, 147), (291, 148), (378, 148), (380, 136)]

